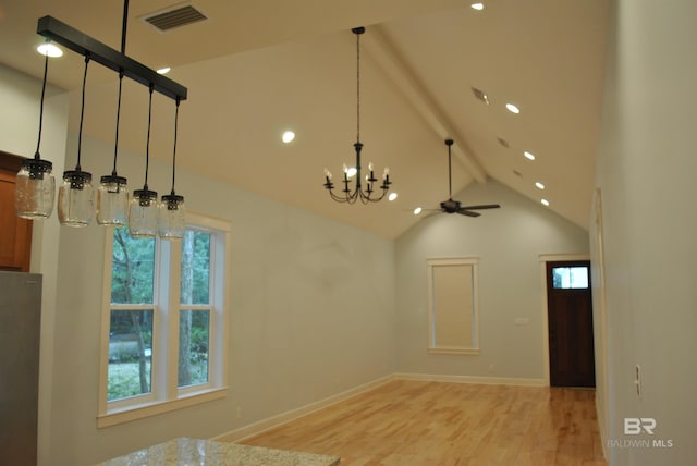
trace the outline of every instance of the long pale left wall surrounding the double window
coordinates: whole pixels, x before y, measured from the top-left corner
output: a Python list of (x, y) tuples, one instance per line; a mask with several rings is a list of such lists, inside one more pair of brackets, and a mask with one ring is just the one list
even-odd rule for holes
[[(0, 149), (33, 156), (39, 95), (36, 79), (0, 68)], [(76, 157), (66, 97), (49, 99), (41, 151), (59, 180), (64, 155), (71, 168)], [(83, 140), (83, 170), (95, 180), (111, 172), (112, 157), (111, 145)], [(143, 156), (120, 151), (132, 189), (143, 169)], [(170, 170), (151, 161), (150, 188), (168, 193)], [(228, 397), (97, 429), (105, 232), (60, 228), (53, 216), (36, 225), (33, 249), (45, 259), (35, 269), (45, 273), (40, 464), (87, 465), (174, 437), (210, 438), (394, 372), (393, 242), (183, 170), (178, 194), (232, 222)]]

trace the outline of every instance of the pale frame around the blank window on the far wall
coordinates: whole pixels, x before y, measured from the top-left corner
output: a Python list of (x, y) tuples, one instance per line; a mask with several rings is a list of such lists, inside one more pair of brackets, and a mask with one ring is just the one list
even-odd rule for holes
[[(430, 354), (458, 354), (478, 355), (479, 350), (479, 259), (476, 257), (427, 259), (428, 269), (428, 353)], [(438, 267), (470, 267), (472, 283), (463, 283), (463, 286), (470, 286), (472, 308), (463, 306), (463, 311), (467, 312), (466, 318), (472, 322), (472, 345), (469, 346), (444, 346), (438, 344), (436, 327), (436, 281), (435, 269)]]

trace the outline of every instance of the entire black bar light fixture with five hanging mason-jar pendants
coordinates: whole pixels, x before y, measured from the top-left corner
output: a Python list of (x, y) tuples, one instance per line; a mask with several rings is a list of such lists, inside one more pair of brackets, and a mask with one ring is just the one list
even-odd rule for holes
[[(85, 71), (82, 87), (82, 109), (80, 132), (77, 139), (77, 164), (75, 170), (63, 173), (63, 183), (59, 189), (59, 221), (68, 226), (86, 226), (94, 216), (94, 188), (91, 174), (82, 170), (81, 150), (82, 132), (85, 112), (85, 86), (89, 61), (96, 61), (119, 74), (119, 100), (117, 105), (117, 134), (114, 142), (113, 170), (111, 174), (100, 179), (97, 189), (97, 223), (100, 225), (125, 225), (130, 223), (132, 234), (136, 236), (155, 236), (162, 238), (181, 238), (184, 235), (184, 197), (174, 192), (174, 170), (176, 160), (176, 125), (179, 105), (186, 99), (186, 87), (158, 74), (125, 54), (126, 24), (129, 15), (129, 0), (123, 3), (123, 23), (121, 34), (121, 51), (83, 34), (52, 16), (38, 20), (37, 33), (46, 37), (47, 41), (60, 44), (85, 58)], [(41, 159), (41, 128), (44, 121), (44, 99), (48, 76), (48, 54), (44, 64), (44, 82), (39, 110), (39, 131), (36, 152), (33, 159), (25, 159), (17, 173), (15, 184), (14, 205), (19, 217), (41, 220), (51, 216), (56, 197), (56, 179), (52, 174), (53, 164)], [(148, 142), (146, 147), (145, 184), (143, 189), (134, 192), (134, 198), (129, 201), (127, 181), (117, 173), (117, 158), (119, 151), (119, 116), (121, 113), (121, 89), (123, 77), (126, 76), (149, 89), (148, 106)], [(174, 119), (174, 150), (172, 155), (172, 189), (170, 195), (162, 196), (161, 201), (157, 193), (147, 186), (150, 120), (152, 108), (152, 93), (157, 91), (176, 102)], [(144, 223), (145, 222), (145, 223)]]

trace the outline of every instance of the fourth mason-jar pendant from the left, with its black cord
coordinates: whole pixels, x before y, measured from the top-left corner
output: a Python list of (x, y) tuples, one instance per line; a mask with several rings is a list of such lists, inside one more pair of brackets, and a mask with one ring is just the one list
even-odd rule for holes
[(150, 162), (150, 122), (152, 119), (152, 90), (148, 101), (148, 135), (145, 147), (145, 183), (143, 189), (133, 192), (129, 203), (129, 231), (134, 237), (152, 237), (157, 234), (158, 201), (157, 192), (148, 189), (148, 165)]

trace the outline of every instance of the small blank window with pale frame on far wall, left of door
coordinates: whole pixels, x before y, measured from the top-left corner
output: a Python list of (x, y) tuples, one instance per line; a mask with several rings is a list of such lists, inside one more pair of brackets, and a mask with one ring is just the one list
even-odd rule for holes
[(429, 353), (479, 354), (478, 259), (428, 259)]

